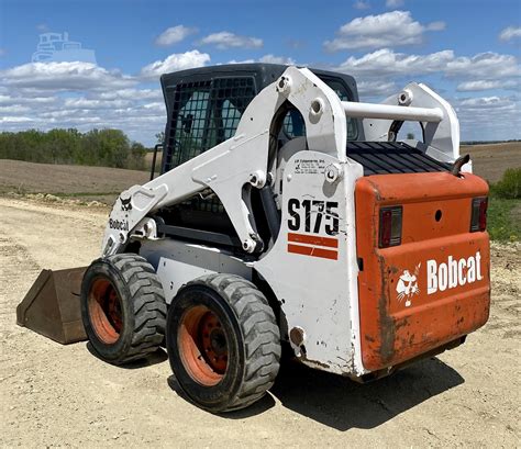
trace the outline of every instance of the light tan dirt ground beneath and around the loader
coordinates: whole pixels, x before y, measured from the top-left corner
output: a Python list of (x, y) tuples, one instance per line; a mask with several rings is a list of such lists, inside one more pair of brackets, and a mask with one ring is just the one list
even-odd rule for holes
[(164, 352), (117, 368), (15, 325), (42, 268), (98, 256), (107, 214), (0, 198), (0, 446), (521, 446), (521, 246), (492, 246), (491, 317), (462, 347), (366, 385), (290, 364), (258, 404), (215, 416), (170, 388)]

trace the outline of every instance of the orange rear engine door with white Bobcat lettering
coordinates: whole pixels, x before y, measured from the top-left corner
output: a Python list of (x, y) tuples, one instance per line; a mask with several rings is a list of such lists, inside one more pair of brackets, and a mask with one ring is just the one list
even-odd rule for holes
[[(489, 238), (470, 232), (487, 183), (470, 173), (375, 175), (355, 190), (362, 358), (370, 371), (434, 350), (483, 326), (490, 304)], [(401, 206), (401, 243), (379, 248), (380, 209)]]

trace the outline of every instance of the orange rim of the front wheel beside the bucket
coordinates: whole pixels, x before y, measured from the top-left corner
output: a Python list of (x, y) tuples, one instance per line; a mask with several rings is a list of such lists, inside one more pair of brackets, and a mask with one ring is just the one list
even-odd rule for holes
[(108, 279), (98, 278), (89, 292), (90, 323), (98, 338), (111, 345), (118, 341), (122, 328), (121, 299)]

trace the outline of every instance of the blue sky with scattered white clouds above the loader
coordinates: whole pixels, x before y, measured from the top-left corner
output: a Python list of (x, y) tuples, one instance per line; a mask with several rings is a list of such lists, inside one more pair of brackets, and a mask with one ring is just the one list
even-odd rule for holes
[[(92, 52), (33, 61), (48, 32)], [(152, 145), (160, 74), (264, 61), (353, 75), (361, 101), (425, 82), (463, 141), (519, 139), (520, 60), (520, 0), (0, 0), (0, 131), (115, 127)]]

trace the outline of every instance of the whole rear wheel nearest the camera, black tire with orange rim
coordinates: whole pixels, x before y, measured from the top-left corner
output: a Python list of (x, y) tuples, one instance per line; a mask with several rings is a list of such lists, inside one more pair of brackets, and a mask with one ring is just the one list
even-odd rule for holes
[(239, 276), (203, 276), (184, 287), (168, 311), (166, 347), (181, 390), (213, 413), (253, 404), (279, 370), (274, 312)]

